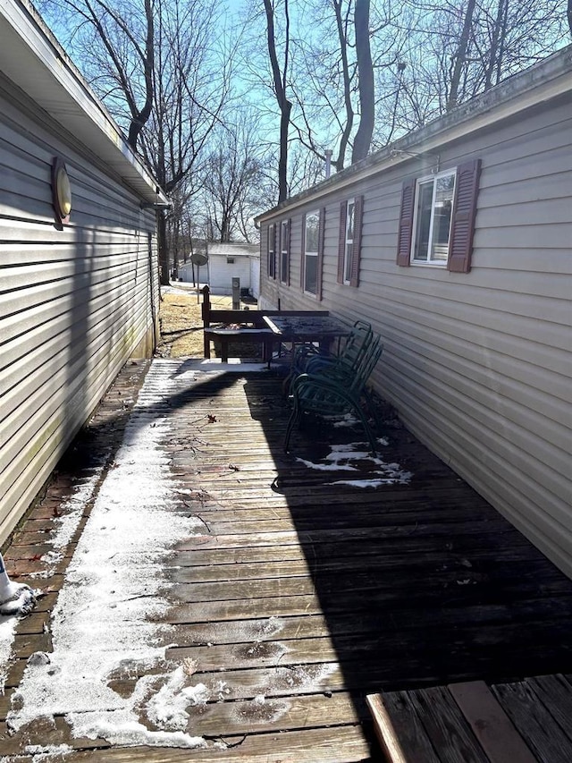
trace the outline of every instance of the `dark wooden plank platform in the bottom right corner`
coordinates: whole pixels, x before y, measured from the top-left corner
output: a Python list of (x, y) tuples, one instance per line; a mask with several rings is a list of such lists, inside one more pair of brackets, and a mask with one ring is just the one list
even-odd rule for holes
[(572, 685), (547, 675), (366, 697), (388, 763), (572, 761)]

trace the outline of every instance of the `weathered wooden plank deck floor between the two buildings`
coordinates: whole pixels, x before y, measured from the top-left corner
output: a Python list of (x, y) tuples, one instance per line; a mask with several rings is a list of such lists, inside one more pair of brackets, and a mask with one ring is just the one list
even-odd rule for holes
[[(159, 399), (167, 372), (176, 390)], [(154, 402), (139, 404), (168, 416), (180, 509), (204, 526), (168, 563), (176, 601), (166, 621), (176, 628), (169, 636), (176, 645), (167, 656), (178, 664), (192, 659), (216, 697), (188, 708), (189, 733), (212, 744), (110, 748), (71, 740), (58, 718), (43, 742), (78, 750), (65, 759), (382, 760), (368, 694), (572, 672), (572, 581), (390, 410), (381, 411), (389, 440), (383, 461), (413, 477), (354, 487), (341, 484), (349, 472), (320, 471), (299, 457), (317, 463), (328, 439), (362, 439), (359, 432), (296, 432), (293, 453), (283, 454), (288, 411), (272, 373), (201, 375), (182, 361), (160, 360), (150, 371), (155, 378)], [(25, 577), (38, 569), (54, 510), (97, 448), (121, 435), (140, 381), (140, 369), (118, 379), (88, 440), (14, 536), (5, 553), (9, 572)], [(363, 462), (358, 476), (372, 476), (373, 468)], [(64, 572), (63, 564), (46, 581), (54, 592), (19, 628), (18, 659), (0, 697), (5, 755), (24, 751), (21, 733), (8, 736), (4, 719), (26, 658), (50, 649), (49, 612)], [(117, 691), (130, 691), (135, 678)]]

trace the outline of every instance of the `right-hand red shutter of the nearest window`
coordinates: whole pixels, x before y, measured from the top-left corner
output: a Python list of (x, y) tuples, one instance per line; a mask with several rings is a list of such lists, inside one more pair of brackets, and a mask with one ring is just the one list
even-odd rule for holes
[(460, 165), (457, 170), (453, 220), (450, 230), (449, 261), (447, 263), (449, 270), (454, 273), (468, 273), (471, 269), (476, 197), (479, 190), (480, 174), (480, 159), (473, 159)]

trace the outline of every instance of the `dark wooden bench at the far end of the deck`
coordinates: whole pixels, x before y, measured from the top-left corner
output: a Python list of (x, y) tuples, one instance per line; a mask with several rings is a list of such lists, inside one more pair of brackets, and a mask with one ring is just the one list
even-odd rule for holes
[[(211, 341), (221, 341), (223, 362), (229, 358), (229, 344), (232, 340), (240, 342), (255, 342), (262, 345), (262, 357), (270, 361), (273, 343), (279, 341), (273, 331), (265, 324), (265, 315), (307, 316), (329, 315), (327, 310), (259, 310), (259, 309), (213, 309), (210, 301), (210, 289), (204, 286), (201, 318), (204, 331), (204, 356), (211, 357)], [(216, 326), (211, 326), (216, 324)]]

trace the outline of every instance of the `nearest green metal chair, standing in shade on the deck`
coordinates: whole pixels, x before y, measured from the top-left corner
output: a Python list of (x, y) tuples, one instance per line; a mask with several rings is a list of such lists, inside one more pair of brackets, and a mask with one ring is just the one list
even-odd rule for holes
[[(327, 418), (341, 418), (348, 413), (356, 413), (366, 432), (372, 453), (377, 453), (375, 438), (361, 405), (361, 398), (367, 396), (366, 382), (383, 352), (379, 336), (374, 336), (368, 344), (361, 360), (352, 369), (322, 367), (315, 373), (299, 374), (290, 387), (292, 412), (286, 426), (284, 450), (288, 452), (294, 425), (303, 413), (313, 413)], [(377, 421), (375, 421), (377, 424)]]

